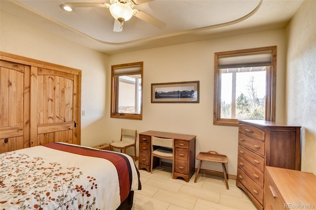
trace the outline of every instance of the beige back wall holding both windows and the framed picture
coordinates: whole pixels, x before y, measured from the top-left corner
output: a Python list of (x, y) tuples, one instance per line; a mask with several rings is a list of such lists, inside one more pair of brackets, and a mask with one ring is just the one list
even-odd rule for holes
[[(228, 173), (237, 174), (237, 127), (213, 125), (214, 53), (277, 45), (276, 120), (284, 121), (285, 31), (275, 30), (228, 36), (207, 41), (173, 45), (110, 56), (110, 65), (144, 62), (143, 120), (109, 118), (109, 137), (115, 138), (120, 127), (139, 132), (157, 130), (197, 136), (196, 153), (215, 150), (229, 159)], [(110, 107), (110, 72), (107, 72), (106, 109)], [(199, 104), (152, 104), (151, 83), (200, 81)], [(133, 154), (132, 150), (129, 150)], [(205, 164), (205, 165), (204, 165)], [(219, 166), (218, 166), (219, 165)], [(220, 169), (220, 164), (203, 163), (203, 168)]]

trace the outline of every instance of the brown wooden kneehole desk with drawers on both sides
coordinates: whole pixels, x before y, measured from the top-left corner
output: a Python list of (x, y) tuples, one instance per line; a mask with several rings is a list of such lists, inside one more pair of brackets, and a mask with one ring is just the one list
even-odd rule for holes
[[(139, 164), (138, 169), (146, 169), (150, 172), (151, 168), (151, 138), (167, 138), (175, 141), (175, 163), (174, 177), (182, 177), (189, 182), (195, 173), (196, 161), (196, 136), (186, 134), (166, 133), (159, 131), (146, 131), (139, 134)], [(159, 164), (158, 158), (154, 159), (154, 167)], [(153, 167), (153, 168), (154, 168)]]

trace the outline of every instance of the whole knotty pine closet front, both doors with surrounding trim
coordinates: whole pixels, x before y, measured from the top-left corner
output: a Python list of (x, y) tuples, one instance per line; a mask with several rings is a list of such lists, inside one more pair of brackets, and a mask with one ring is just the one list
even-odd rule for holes
[(81, 70), (0, 52), (0, 153), (80, 144)]

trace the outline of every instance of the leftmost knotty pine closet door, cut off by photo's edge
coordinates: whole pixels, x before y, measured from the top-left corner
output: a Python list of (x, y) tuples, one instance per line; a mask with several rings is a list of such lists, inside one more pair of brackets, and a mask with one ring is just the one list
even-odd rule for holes
[(30, 67), (0, 60), (0, 153), (29, 147)]

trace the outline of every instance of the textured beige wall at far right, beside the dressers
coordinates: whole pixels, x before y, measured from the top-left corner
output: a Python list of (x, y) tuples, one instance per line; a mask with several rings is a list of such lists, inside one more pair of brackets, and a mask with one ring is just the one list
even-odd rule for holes
[(302, 126), (302, 171), (316, 175), (316, 1), (305, 0), (287, 27), (287, 122)]

